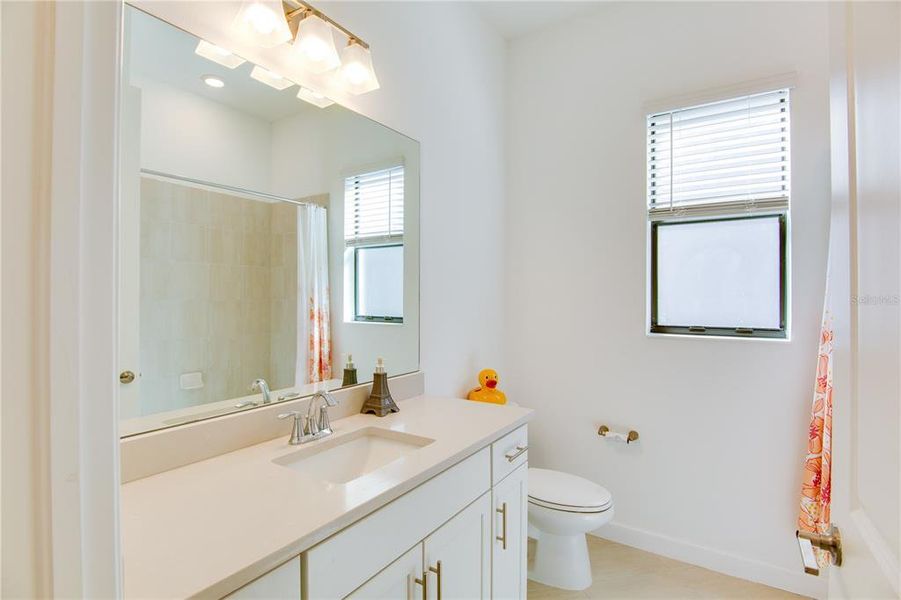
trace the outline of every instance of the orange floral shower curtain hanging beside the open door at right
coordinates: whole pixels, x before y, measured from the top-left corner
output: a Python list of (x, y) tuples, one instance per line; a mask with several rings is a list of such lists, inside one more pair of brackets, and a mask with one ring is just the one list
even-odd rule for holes
[[(810, 427), (807, 430), (807, 456), (801, 485), (801, 510), (798, 528), (826, 533), (830, 526), (829, 505), (832, 494), (832, 313), (829, 307), (829, 275), (826, 275), (826, 300), (817, 356)], [(816, 550), (816, 549), (815, 549)], [(817, 561), (825, 566), (827, 557), (817, 551)]]

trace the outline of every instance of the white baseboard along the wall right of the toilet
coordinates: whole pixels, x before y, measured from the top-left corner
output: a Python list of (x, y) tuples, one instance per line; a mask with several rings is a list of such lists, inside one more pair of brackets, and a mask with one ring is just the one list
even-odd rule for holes
[[(789, 571), (782, 567), (636, 527), (629, 527), (615, 521), (604, 525), (592, 532), (591, 535), (802, 596), (826, 597), (827, 581), (823, 577), (812, 577), (802, 572)], [(800, 558), (798, 560), (798, 570), (800, 571)]]

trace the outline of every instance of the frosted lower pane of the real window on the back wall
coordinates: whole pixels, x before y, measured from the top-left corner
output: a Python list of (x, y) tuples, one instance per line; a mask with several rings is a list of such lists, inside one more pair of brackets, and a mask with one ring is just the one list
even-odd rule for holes
[(657, 324), (779, 329), (779, 219), (657, 227)]

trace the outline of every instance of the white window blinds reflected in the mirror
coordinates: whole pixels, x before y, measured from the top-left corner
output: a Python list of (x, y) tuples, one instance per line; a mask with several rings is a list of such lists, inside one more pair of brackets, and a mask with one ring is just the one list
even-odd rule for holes
[(344, 241), (348, 246), (399, 243), (404, 236), (404, 168), (344, 180)]

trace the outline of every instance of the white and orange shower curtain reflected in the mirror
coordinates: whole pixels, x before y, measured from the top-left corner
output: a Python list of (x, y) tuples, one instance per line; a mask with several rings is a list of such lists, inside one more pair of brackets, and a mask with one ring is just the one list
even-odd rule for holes
[(328, 289), (328, 213), (297, 207), (297, 366), (295, 385), (332, 377)]

